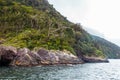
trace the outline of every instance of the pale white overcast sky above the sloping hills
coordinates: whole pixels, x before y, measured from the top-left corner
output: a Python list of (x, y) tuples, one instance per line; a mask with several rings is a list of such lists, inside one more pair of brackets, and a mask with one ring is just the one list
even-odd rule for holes
[(120, 0), (48, 1), (70, 21), (120, 46)]

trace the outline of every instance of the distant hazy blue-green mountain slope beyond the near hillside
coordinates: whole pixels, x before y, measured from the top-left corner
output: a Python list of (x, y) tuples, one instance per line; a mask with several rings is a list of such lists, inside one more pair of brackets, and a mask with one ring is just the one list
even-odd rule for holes
[(120, 47), (97, 36), (93, 36), (95, 46), (108, 58), (120, 58)]

